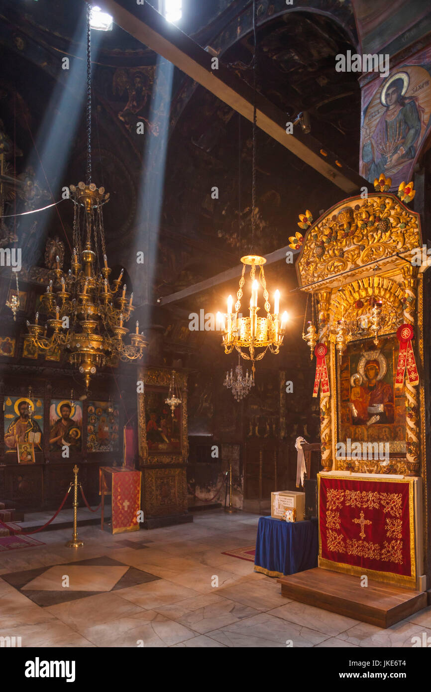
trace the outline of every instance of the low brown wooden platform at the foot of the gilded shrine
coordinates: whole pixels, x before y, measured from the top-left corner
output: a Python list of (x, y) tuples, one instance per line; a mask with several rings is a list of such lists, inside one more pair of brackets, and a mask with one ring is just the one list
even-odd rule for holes
[(383, 628), (422, 610), (428, 601), (426, 592), (371, 580), (367, 587), (361, 587), (358, 576), (319, 567), (277, 581), (282, 585), (282, 596), (288, 599)]

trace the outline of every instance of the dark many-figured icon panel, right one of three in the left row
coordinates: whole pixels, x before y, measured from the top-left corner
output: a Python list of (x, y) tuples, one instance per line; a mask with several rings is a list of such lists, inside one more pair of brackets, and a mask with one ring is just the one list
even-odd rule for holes
[[(108, 409), (112, 409), (109, 411)], [(119, 446), (118, 406), (109, 401), (89, 401), (87, 445), (89, 452), (116, 452)]]

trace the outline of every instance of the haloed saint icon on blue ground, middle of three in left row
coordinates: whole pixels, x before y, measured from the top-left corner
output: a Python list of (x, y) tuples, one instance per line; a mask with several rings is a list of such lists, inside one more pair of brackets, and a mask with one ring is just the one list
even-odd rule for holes
[(71, 451), (79, 451), (82, 444), (82, 403), (75, 401), (73, 406), (68, 399), (52, 399), (49, 409), (49, 446), (52, 452), (62, 451), (64, 446)]

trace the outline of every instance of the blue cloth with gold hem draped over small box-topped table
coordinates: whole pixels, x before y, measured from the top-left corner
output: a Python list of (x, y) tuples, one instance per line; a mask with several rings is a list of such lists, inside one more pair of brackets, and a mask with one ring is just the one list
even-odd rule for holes
[(318, 520), (286, 522), (259, 518), (255, 572), (284, 576), (318, 566)]

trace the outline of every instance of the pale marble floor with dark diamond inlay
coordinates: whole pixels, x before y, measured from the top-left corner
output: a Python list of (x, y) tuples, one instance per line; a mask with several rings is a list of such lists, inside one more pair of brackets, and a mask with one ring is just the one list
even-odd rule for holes
[(23, 647), (411, 647), (431, 638), (431, 608), (382, 630), (282, 598), (275, 579), (223, 554), (252, 545), (258, 520), (217, 509), (134, 534), (87, 526), (75, 550), (64, 545), (70, 529), (41, 532), (46, 545), (0, 554), (0, 637)]

